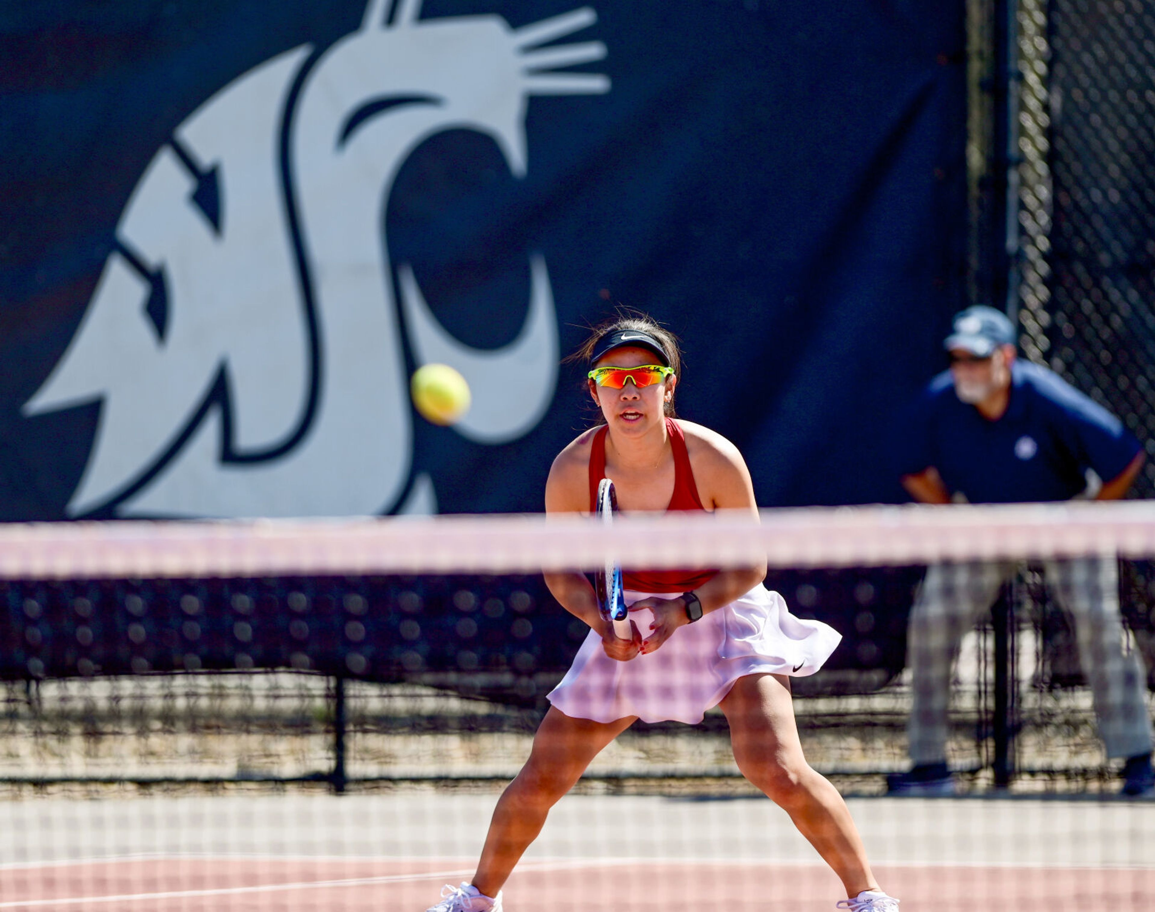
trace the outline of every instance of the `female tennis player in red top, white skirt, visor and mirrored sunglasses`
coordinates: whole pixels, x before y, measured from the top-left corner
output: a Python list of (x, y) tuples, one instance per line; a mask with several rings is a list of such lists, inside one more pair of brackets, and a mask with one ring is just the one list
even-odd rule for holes
[[(673, 417), (680, 354), (673, 336), (643, 316), (598, 327), (578, 356), (604, 424), (554, 459), (546, 513), (591, 513), (598, 483), (613, 479), (623, 510), (748, 510), (750, 472), (728, 440)], [(427, 912), (500, 912), (501, 887), (550, 808), (590, 761), (636, 719), (702, 720), (720, 705), (742, 773), (777, 802), (847, 889), (839, 909), (892, 912), (839, 792), (806, 763), (790, 702), (790, 675), (812, 674), (840, 635), (795, 618), (762, 586), (766, 565), (731, 570), (624, 573), (632, 640), (603, 620), (579, 573), (546, 574), (566, 610), (590, 631), (549, 695), (530, 757), (493, 812), (472, 883), (447, 885)]]

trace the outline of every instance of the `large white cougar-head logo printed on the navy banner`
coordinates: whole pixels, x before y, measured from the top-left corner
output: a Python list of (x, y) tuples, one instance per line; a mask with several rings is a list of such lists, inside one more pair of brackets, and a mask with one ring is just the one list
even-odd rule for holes
[(409, 478), (398, 305), (417, 360), (469, 381), (461, 434), (500, 443), (541, 420), (558, 351), (544, 259), (530, 259), (517, 338), (470, 349), (405, 263), (396, 299), (382, 212), (407, 157), (442, 130), (493, 137), (523, 175), (529, 96), (609, 91), (603, 75), (551, 72), (602, 59), (599, 42), (539, 47), (596, 15), (513, 30), (498, 16), (419, 22), (419, 0), (387, 23), (390, 5), (371, 0), (311, 66), (303, 46), (241, 76), (152, 158), (75, 338), (24, 406), (102, 401), (69, 515), (126, 491), (126, 516), (433, 511), (429, 478)]

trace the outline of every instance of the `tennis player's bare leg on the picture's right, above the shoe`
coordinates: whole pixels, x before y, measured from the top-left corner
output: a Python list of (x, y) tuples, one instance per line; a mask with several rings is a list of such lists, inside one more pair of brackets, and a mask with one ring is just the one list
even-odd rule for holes
[(777, 803), (842, 880), (847, 896), (878, 889), (837, 790), (803, 756), (785, 675), (739, 678), (721, 703), (738, 769)]

